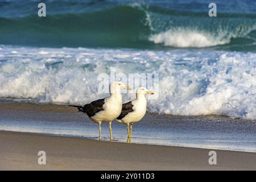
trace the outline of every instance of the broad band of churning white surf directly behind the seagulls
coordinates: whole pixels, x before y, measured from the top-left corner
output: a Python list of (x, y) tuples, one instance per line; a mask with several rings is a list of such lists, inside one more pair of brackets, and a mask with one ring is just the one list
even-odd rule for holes
[(150, 112), (256, 119), (256, 53), (1, 46), (0, 55), (1, 98), (85, 104), (108, 96), (97, 93), (98, 75), (115, 68), (159, 73)]

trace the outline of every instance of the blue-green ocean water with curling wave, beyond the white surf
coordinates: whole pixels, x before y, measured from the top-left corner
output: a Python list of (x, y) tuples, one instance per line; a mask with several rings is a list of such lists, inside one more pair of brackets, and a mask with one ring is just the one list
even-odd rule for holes
[(256, 2), (214, 1), (1, 1), (0, 44), (226, 51), (256, 50)]

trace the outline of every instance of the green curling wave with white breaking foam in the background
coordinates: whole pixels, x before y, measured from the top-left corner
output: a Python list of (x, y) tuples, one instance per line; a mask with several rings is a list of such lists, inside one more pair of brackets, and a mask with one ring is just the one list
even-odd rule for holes
[(183, 48), (228, 44), (226, 49), (232, 51), (255, 51), (255, 15), (218, 16), (220, 19), (209, 19), (202, 13), (138, 3), (64, 11), (49, 14), (45, 19), (34, 15), (8, 16), (0, 17), (0, 42), (42, 47), (150, 49), (162, 48), (158, 44)]

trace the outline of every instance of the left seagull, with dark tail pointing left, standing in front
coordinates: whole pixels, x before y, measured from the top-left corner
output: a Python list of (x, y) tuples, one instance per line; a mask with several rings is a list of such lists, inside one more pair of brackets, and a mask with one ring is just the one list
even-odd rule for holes
[(110, 140), (112, 137), (112, 121), (118, 117), (122, 111), (122, 95), (121, 90), (131, 90), (130, 86), (126, 86), (122, 82), (114, 81), (110, 84), (110, 96), (90, 102), (84, 106), (68, 105), (71, 107), (77, 107), (78, 111), (86, 113), (90, 120), (98, 123), (98, 134), (101, 139), (101, 123), (109, 123)]

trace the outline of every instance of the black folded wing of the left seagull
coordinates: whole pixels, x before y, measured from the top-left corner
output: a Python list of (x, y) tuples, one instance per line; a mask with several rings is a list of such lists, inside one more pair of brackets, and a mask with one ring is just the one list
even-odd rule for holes
[(103, 109), (105, 104), (105, 98), (93, 101), (90, 104), (85, 104), (79, 109), (79, 111), (86, 113), (89, 117), (93, 117), (96, 113), (100, 112)]

